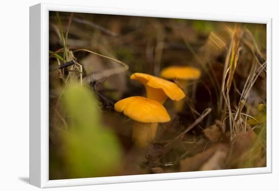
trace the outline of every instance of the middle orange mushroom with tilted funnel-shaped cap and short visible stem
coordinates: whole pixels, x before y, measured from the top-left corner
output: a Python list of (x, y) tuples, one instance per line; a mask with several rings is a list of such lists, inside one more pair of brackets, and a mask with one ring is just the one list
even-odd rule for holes
[(185, 97), (184, 92), (176, 83), (154, 77), (153, 75), (133, 73), (130, 79), (141, 82), (146, 88), (147, 98), (156, 100), (161, 104), (164, 104), (167, 97), (175, 101)]

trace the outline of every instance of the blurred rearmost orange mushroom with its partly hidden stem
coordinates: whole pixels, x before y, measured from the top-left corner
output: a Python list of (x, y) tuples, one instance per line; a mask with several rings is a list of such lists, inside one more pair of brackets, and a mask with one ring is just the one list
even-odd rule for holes
[[(180, 87), (187, 92), (187, 83), (189, 80), (197, 80), (200, 78), (200, 70), (191, 66), (169, 66), (161, 71), (161, 77), (173, 80), (177, 79)], [(184, 105), (184, 100), (175, 103), (177, 111), (181, 111)]]

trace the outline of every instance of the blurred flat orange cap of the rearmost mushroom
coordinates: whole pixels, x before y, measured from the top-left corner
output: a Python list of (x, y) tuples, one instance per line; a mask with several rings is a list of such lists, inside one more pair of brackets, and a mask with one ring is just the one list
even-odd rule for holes
[(191, 66), (169, 66), (161, 71), (161, 77), (165, 79), (197, 80), (200, 70)]

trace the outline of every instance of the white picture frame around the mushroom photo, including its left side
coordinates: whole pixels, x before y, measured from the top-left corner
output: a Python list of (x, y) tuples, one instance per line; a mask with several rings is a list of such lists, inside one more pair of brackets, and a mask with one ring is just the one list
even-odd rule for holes
[[(182, 18), (211, 21), (232, 21), (266, 24), (267, 30), (267, 160), (266, 167), (230, 169), (198, 172), (179, 172), (113, 177), (49, 180), (49, 11), (97, 13), (111, 15)], [(231, 176), (272, 172), (271, 157), (271, 18), (238, 17), (222, 15), (200, 15), (183, 12), (169, 12), (115, 9), (98, 7), (77, 7), (65, 5), (38, 4), (30, 7), (30, 184), (41, 188), (77, 186), (138, 181)]]

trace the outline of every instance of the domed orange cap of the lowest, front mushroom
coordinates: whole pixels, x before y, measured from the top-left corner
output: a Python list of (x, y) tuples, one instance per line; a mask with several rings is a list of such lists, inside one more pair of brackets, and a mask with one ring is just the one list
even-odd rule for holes
[(170, 117), (165, 107), (159, 102), (141, 97), (133, 96), (122, 99), (115, 103), (114, 109), (123, 112), (132, 120), (142, 123), (164, 123), (169, 122)]

